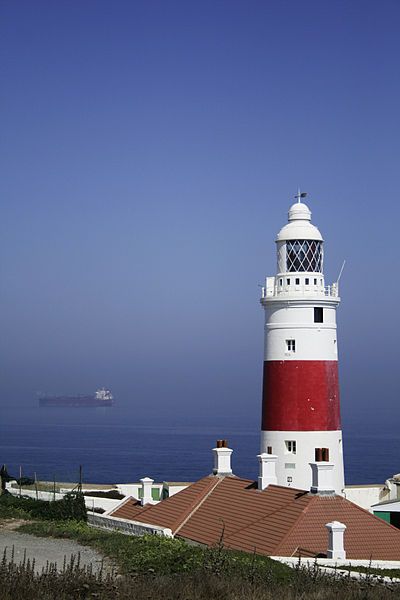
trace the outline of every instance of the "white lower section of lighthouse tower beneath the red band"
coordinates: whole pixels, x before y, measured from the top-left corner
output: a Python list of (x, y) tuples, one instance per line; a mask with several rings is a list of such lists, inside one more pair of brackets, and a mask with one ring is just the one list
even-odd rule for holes
[(278, 485), (310, 490), (315, 462), (315, 448), (329, 449), (329, 462), (334, 463), (333, 486), (343, 494), (343, 444), (341, 431), (262, 431), (261, 453), (276, 454)]

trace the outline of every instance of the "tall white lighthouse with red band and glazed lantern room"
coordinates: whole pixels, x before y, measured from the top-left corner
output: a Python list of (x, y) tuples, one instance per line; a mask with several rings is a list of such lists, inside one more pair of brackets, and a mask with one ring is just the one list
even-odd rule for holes
[(276, 238), (277, 274), (267, 277), (261, 453), (274, 454), (278, 485), (309, 490), (315, 463), (330, 466), (343, 493), (336, 308), (325, 285), (323, 238), (297, 194)]

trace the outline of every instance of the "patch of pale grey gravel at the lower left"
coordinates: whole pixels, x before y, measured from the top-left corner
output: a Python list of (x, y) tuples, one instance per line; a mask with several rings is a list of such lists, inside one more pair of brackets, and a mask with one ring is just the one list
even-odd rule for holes
[(35, 570), (39, 573), (47, 563), (57, 563), (58, 569), (61, 570), (64, 557), (69, 563), (71, 555), (78, 553), (80, 553), (81, 566), (92, 565), (93, 571), (98, 571), (103, 562), (104, 569), (107, 571), (112, 569), (112, 565), (107, 559), (103, 559), (101, 554), (88, 546), (82, 546), (72, 540), (40, 538), (26, 533), (18, 533), (15, 528), (20, 524), (21, 522), (15, 520), (0, 523), (0, 560), (4, 552), (6, 552), (7, 559), (11, 560), (14, 547), (14, 562), (22, 562), (26, 551), (27, 559), (29, 558), (30, 561), (35, 559)]

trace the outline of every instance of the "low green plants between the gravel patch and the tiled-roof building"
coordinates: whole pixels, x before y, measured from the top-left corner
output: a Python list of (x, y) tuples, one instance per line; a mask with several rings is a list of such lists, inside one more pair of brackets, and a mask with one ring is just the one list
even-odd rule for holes
[(124, 574), (162, 576), (195, 573), (199, 570), (244, 577), (286, 579), (292, 569), (268, 557), (216, 548), (200, 548), (177, 539), (159, 536), (135, 537), (111, 533), (73, 521), (37, 522), (23, 525), (19, 531), (38, 536), (71, 538), (92, 546), (111, 558)]

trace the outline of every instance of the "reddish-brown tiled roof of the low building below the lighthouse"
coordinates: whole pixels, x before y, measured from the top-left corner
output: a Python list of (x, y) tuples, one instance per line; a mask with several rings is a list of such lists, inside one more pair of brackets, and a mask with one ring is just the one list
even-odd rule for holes
[(239, 477), (204, 477), (156, 505), (124, 503), (113, 517), (169, 527), (177, 537), (266, 555), (326, 554), (326, 523), (347, 526), (347, 557), (400, 560), (400, 530), (341, 496), (256, 484)]

